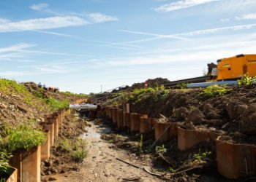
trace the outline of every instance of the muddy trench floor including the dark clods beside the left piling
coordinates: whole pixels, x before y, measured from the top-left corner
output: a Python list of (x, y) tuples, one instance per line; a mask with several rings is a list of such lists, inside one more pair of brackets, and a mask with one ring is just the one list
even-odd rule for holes
[[(142, 168), (132, 166), (146, 167), (154, 172), (150, 158), (140, 158), (127, 150), (119, 149), (112, 141), (102, 139), (102, 135), (109, 135), (112, 132), (110, 127), (102, 122), (89, 122), (86, 131), (80, 135), (80, 138), (87, 142), (86, 159), (77, 164), (71, 162), (65, 154), (56, 153), (56, 149), (53, 149), (53, 157), (42, 166), (42, 181), (165, 181), (146, 173)], [(52, 166), (45, 166), (48, 163)]]

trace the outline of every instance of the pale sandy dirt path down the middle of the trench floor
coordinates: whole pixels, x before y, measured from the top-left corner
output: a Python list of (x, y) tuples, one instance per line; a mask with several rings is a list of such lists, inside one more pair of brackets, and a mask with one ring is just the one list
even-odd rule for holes
[[(105, 124), (96, 125), (93, 122), (91, 127), (87, 127), (87, 132), (81, 138), (88, 143), (88, 157), (84, 159), (83, 165), (78, 172), (58, 174), (54, 178), (57, 181), (124, 181), (124, 178), (140, 178), (140, 181), (161, 181), (131, 165), (118, 161), (116, 157), (124, 159), (138, 166), (150, 166), (146, 162), (140, 161), (138, 157), (128, 154), (127, 151), (117, 149), (113, 143), (103, 141), (100, 136), (110, 132), (110, 128)], [(150, 169), (148, 169), (150, 170)]]

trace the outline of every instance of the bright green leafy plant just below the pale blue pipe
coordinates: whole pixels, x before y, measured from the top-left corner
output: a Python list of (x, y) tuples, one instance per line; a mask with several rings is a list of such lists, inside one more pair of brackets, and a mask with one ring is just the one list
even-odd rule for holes
[(214, 98), (214, 97), (218, 97), (221, 95), (226, 95), (227, 92), (230, 92), (232, 89), (227, 89), (225, 85), (210, 85), (208, 87), (206, 87), (203, 90), (203, 95), (208, 97), (208, 98)]

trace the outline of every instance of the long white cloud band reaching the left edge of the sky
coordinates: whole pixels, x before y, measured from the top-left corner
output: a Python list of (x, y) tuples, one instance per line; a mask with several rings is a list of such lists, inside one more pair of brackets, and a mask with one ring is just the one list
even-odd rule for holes
[(22, 20), (19, 22), (3, 23), (0, 25), (0, 32), (35, 31), (85, 24), (88, 24), (86, 20), (76, 16), (45, 17), (31, 20)]

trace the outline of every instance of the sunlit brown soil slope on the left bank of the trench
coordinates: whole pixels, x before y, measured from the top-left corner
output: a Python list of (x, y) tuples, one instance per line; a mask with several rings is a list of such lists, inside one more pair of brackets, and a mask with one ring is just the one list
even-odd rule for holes
[(44, 119), (53, 113), (43, 100), (34, 95), (35, 92), (42, 94), (43, 98), (68, 100), (70, 103), (78, 99), (74, 95), (42, 90), (34, 82), (26, 82), (20, 85), (21, 87), (25, 86), (27, 91), (18, 92), (12, 87), (0, 91), (0, 132), (2, 122), (9, 122), (14, 125), (31, 119), (44, 122)]

